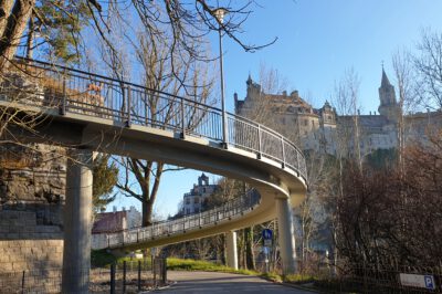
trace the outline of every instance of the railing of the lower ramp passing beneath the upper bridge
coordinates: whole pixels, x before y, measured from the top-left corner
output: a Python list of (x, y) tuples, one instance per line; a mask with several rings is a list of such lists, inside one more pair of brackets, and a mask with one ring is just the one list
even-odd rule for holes
[(109, 234), (93, 234), (93, 249), (120, 248), (214, 225), (220, 221), (232, 220), (252, 211), (260, 203), (260, 199), (261, 197), (255, 190), (250, 190), (244, 196), (200, 213), (183, 216), (176, 220), (155, 222), (144, 228)]

